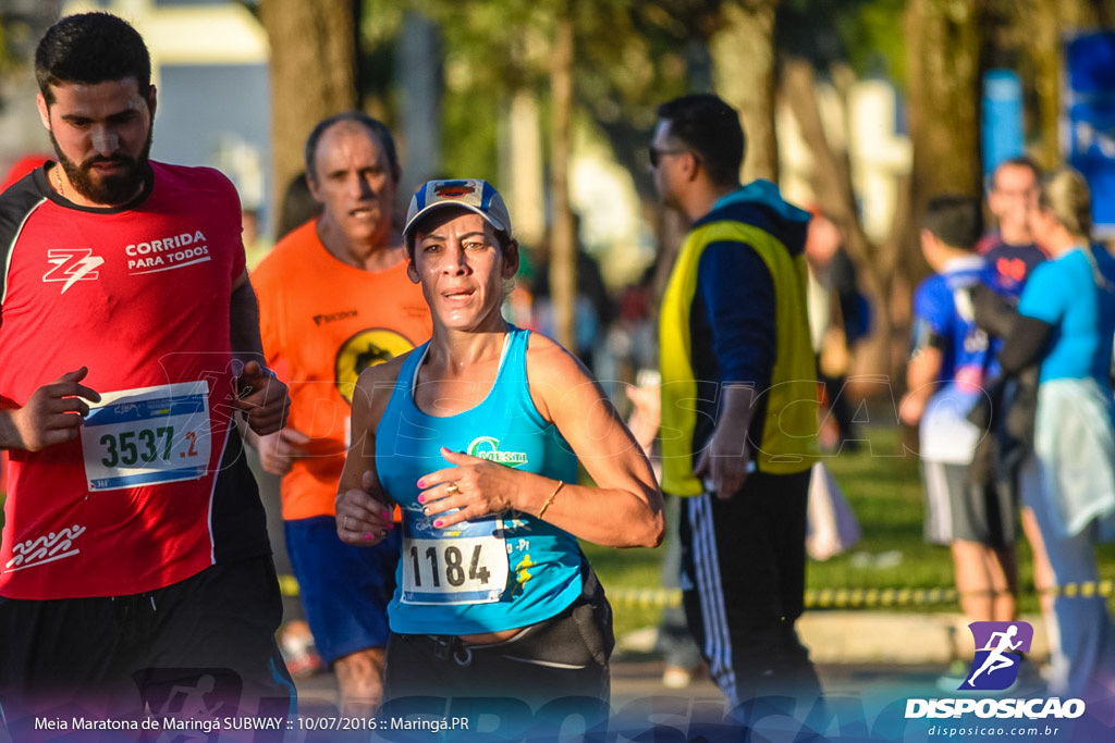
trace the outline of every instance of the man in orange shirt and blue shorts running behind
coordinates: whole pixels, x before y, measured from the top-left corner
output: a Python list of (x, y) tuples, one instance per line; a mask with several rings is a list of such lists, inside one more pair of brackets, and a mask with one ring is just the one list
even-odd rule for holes
[(399, 537), (342, 544), (333, 500), (357, 377), (428, 339), (430, 319), (391, 219), (400, 169), (387, 127), (359, 111), (321, 121), (307, 140), (306, 173), (321, 216), (252, 274), (268, 363), (291, 389), (287, 428), (256, 443), (263, 468), (283, 477), (287, 548), (341, 711), (370, 716), (382, 694)]

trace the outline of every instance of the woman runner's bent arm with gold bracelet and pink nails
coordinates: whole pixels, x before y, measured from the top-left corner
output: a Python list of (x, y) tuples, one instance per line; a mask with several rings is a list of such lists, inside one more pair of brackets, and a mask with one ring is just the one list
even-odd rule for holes
[[(532, 335), (526, 356), (531, 398), (553, 421), (595, 482), (560, 483), (468, 454), (443, 450), (456, 467), (423, 478), (423, 502), (445, 528), (505, 510), (541, 517), (605, 547), (657, 547), (666, 527), (650, 462), (591, 374), (553, 341)], [(456, 486), (456, 487), (453, 487)]]

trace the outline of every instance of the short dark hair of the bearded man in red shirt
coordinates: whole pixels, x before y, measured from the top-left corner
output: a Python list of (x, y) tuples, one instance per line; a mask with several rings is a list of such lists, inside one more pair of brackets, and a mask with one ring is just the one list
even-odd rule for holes
[(134, 77), (139, 94), (151, 90), (151, 55), (143, 37), (123, 18), (91, 12), (67, 16), (43, 35), (35, 50), (35, 78), (47, 105), (51, 86), (97, 85)]

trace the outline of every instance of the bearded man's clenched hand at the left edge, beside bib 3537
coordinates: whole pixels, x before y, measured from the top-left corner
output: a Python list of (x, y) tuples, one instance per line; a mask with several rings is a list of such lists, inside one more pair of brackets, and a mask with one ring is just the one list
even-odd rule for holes
[(66, 372), (36, 390), (22, 408), (10, 411), (7, 423), (0, 420), (4, 448), (40, 451), (76, 439), (89, 414), (85, 401), (100, 401), (96, 390), (79, 383), (88, 373), (87, 366)]

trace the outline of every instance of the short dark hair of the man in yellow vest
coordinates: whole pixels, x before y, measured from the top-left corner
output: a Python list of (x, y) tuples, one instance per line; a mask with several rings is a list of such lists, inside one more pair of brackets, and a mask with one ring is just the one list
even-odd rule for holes
[(682, 96), (658, 107), (658, 118), (669, 121), (669, 136), (700, 158), (718, 186), (739, 183), (746, 139), (739, 114), (717, 96)]

